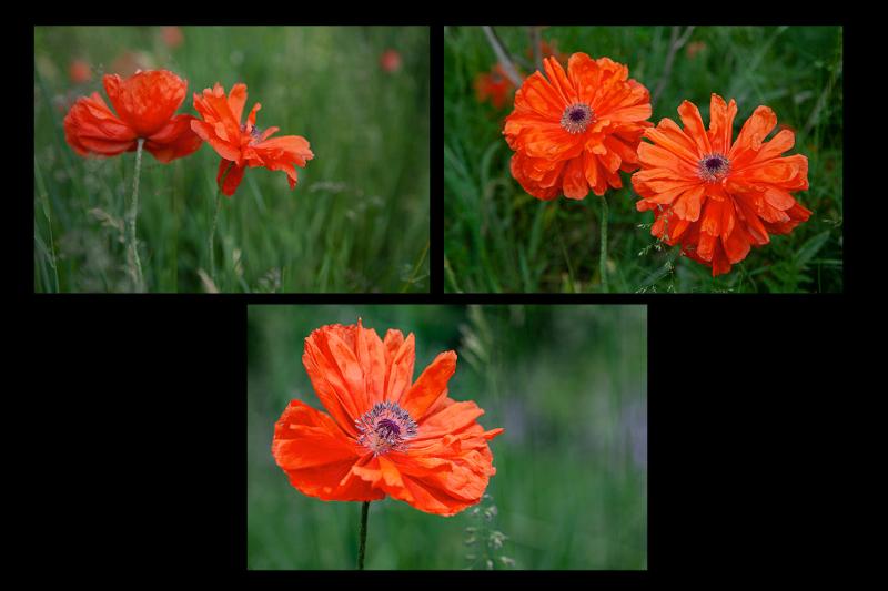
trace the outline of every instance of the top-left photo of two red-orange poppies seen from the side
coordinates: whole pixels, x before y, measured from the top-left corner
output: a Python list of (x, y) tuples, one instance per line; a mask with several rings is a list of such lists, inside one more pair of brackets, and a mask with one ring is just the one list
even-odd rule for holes
[(430, 291), (428, 27), (34, 27), (34, 292)]

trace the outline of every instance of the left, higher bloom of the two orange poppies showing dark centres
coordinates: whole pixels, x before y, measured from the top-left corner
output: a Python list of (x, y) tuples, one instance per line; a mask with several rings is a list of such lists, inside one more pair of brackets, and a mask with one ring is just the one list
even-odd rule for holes
[(582, 200), (623, 186), (619, 171), (638, 167), (636, 149), (650, 126), (650, 93), (609, 58), (574, 53), (567, 73), (554, 58), (515, 93), (515, 110), (503, 133), (512, 175), (541, 200)]

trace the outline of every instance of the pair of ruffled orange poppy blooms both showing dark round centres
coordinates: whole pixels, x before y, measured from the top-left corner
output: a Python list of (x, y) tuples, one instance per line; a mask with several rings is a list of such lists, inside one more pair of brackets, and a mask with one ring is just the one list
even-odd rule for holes
[(708, 130), (688, 101), (678, 108), (684, 129), (670, 119), (654, 126), (650, 93), (626, 65), (574, 53), (566, 73), (553, 58), (544, 69), (548, 80), (537, 71), (515, 93), (503, 131), (515, 152), (512, 175), (531, 195), (601, 196), (623, 186), (619, 171), (637, 170), (636, 208), (654, 211), (650, 233), (680, 244), (713, 276), (810, 216), (791, 195), (808, 188), (808, 160), (781, 156), (795, 134), (785, 129), (765, 141), (777, 125), (771, 109), (756, 109), (731, 141), (733, 99), (713, 93)]

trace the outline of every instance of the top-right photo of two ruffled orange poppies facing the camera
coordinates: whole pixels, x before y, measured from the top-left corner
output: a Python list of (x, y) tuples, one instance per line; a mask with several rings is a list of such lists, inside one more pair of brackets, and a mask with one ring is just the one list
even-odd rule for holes
[(842, 291), (840, 27), (445, 27), (448, 293)]

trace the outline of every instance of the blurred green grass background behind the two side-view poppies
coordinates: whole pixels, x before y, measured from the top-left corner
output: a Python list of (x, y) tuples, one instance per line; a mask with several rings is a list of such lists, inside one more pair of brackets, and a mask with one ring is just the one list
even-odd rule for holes
[[(248, 85), (261, 128), (302, 135), (314, 160), (291, 191), (282, 172), (250, 169), (223, 198), (216, 283), (224, 292), (428, 291), (428, 28), (34, 28), (34, 289), (125, 292), (122, 217), (135, 153), (83, 159), (64, 142), (70, 104), (102, 73), (165, 68), (192, 94)], [(169, 34), (169, 33), (168, 33)], [(168, 41), (170, 41), (168, 39)], [(173, 40), (174, 41), (174, 40)], [(387, 50), (400, 64), (383, 68)], [(90, 80), (77, 83), (72, 62)], [(206, 241), (220, 156), (204, 144), (170, 164), (142, 159), (138, 237), (152, 292), (208, 289)]]

